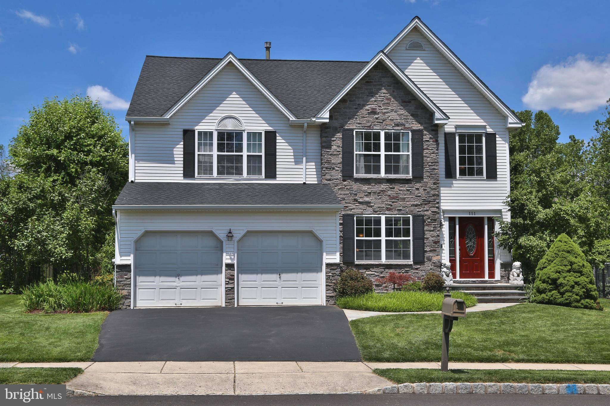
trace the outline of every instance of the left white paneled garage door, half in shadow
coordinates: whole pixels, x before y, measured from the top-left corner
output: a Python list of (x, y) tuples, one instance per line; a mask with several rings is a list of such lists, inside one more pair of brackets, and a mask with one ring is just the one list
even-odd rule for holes
[(222, 258), (210, 232), (145, 233), (135, 245), (135, 306), (221, 306)]

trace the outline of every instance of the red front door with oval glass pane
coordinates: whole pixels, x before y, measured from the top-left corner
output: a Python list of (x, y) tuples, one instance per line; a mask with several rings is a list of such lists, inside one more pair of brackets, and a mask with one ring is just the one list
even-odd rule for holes
[(484, 217), (459, 219), (459, 278), (485, 279)]

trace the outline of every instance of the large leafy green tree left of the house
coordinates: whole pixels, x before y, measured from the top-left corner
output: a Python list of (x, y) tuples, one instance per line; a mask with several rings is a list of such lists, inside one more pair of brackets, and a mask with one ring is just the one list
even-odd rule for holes
[(95, 272), (127, 166), (127, 142), (98, 102), (55, 98), (32, 109), (9, 145), (12, 172), (0, 177), (2, 279), (23, 285), (48, 264)]

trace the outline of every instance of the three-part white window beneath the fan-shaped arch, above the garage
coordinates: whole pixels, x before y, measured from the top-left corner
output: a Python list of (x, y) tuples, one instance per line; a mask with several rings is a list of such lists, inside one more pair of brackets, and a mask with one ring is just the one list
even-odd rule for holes
[(198, 177), (263, 176), (262, 131), (197, 131), (196, 142)]

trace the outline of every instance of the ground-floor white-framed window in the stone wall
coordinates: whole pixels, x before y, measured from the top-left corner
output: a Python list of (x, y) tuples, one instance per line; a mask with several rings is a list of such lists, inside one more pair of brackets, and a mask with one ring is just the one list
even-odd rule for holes
[(411, 261), (410, 215), (357, 215), (356, 261)]

